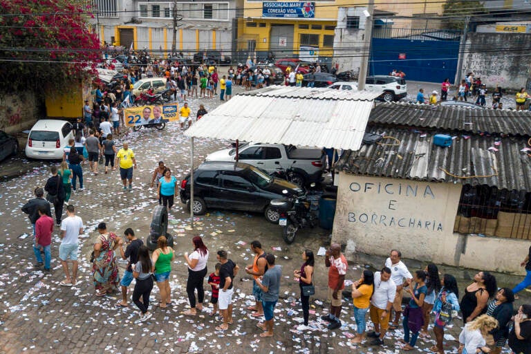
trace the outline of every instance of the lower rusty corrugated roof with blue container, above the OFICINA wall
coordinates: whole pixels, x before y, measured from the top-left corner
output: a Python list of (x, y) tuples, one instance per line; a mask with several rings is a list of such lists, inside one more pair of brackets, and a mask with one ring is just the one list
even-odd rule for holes
[[(499, 189), (531, 191), (531, 157), (523, 137), (455, 136), (451, 147), (433, 144), (434, 133), (416, 129), (371, 127), (384, 138), (379, 144), (346, 151), (337, 167), (353, 174), (429, 180)], [(437, 131), (447, 133), (449, 131)], [(396, 140), (395, 140), (396, 139)], [(494, 147), (498, 151), (491, 151)]]

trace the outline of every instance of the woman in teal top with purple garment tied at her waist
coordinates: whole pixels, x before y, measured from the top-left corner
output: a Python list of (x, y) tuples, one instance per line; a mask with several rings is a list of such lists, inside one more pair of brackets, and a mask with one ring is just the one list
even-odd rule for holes
[[(402, 321), (402, 325), (404, 326), (404, 340), (402, 343), (405, 344), (402, 348), (403, 351), (411, 351), (415, 348), (418, 333), (424, 324), (422, 305), (424, 305), (424, 299), (428, 290), (425, 283), (426, 273), (424, 270), (417, 270), (413, 281), (415, 281), (415, 286), (413, 287), (413, 283), (409, 283), (409, 287), (406, 288), (406, 292), (411, 295), (411, 300), (409, 300), (409, 304), (406, 306)], [(411, 335), (411, 339), (409, 335)]]

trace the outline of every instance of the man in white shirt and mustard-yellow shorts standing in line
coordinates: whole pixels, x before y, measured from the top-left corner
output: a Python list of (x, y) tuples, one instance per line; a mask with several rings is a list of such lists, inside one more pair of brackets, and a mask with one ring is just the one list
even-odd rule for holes
[(381, 346), (384, 344), (384, 336), (389, 327), (391, 307), (396, 294), (396, 285), (391, 280), (391, 270), (382, 268), (381, 272), (374, 273), (374, 292), (371, 297), (371, 310), (369, 315), (374, 324), (374, 330), (367, 333), (367, 337), (373, 338), (369, 344)]

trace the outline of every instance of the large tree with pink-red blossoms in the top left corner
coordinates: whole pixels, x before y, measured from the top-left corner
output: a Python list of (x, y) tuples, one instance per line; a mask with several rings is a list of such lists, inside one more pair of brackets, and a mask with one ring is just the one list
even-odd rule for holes
[(100, 59), (88, 6), (68, 0), (0, 0), (0, 82), (8, 91), (55, 88), (93, 76)]

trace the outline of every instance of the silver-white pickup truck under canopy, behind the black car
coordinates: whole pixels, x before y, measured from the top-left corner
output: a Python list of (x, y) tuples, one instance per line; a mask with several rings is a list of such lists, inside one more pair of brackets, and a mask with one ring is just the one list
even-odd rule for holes
[[(268, 174), (292, 168), (292, 182), (303, 187), (318, 183), (323, 177), (321, 149), (299, 149), (293, 145), (261, 144), (248, 142), (239, 147), (239, 161), (265, 170)], [(236, 149), (223, 149), (207, 155), (207, 161), (236, 162)]]

